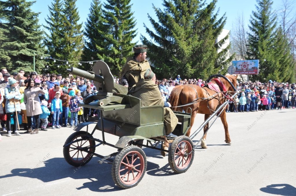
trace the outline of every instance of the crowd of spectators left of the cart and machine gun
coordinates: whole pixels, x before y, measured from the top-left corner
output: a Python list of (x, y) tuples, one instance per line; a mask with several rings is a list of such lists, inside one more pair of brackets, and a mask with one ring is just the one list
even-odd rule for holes
[[(92, 81), (69, 74), (25, 75), (24, 70), (0, 73), (0, 124), (2, 133), (20, 136), (18, 124), (25, 132), (36, 134), (39, 128), (59, 129), (77, 126), (96, 117), (96, 110), (79, 107), (83, 98), (96, 93)], [(68, 120), (69, 118), (69, 120)], [(1, 135), (0, 135), (1, 139)]]

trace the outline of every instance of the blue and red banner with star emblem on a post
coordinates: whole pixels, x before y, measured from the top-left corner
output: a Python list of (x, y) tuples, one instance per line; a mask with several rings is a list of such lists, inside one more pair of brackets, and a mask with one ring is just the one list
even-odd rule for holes
[(244, 61), (232, 61), (235, 67), (234, 74), (258, 74), (259, 73), (259, 60), (244, 60)]

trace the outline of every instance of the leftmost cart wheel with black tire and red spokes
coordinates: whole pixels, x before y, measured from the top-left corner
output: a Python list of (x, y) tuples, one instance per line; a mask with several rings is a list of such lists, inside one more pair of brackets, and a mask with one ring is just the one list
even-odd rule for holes
[[(84, 139), (82, 141), (72, 143), (70, 146), (64, 147), (64, 158), (70, 165), (83, 166), (87, 164), (94, 156), (93, 153), (96, 149), (95, 141), (91, 139), (85, 139), (86, 133), (86, 131), (78, 131), (72, 133), (67, 138), (65, 145), (78, 139)], [(89, 133), (88, 135), (89, 137), (93, 138)], [(90, 152), (85, 152), (83, 150), (88, 150)]]

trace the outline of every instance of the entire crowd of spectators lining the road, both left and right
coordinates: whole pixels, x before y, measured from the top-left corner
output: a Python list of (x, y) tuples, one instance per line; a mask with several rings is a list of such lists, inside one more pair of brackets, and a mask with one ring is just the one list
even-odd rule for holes
[[(119, 83), (119, 79), (114, 79)], [(156, 80), (164, 101), (168, 101), (173, 88), (178, 85), (198, 85), (203, 87), (202, 79)], [(268, 81), (239, 82), (239, 95), (229, 102), (226, 112), (255, 112), (259, 110), (281, 110), (295, 108), (295, 84)], [(24, 70), (9, 74), (7, 69), (0, 73), (0, 124), (2, 133), (7, 136), (21, 135), (18, 132), (17, 121), (24, 133), (36, 134), (39, 127), (48, 128), (77, 126), (96, 117), (96, 110), (79, 107), (83, 98), (96, 93), (92, 81), (69, 74), (37, 74), (31, 72), (25, 75)], [(12, 126), (12, 128), (11, 128)], [(1, 135), (0, 135), (1, 139)]]

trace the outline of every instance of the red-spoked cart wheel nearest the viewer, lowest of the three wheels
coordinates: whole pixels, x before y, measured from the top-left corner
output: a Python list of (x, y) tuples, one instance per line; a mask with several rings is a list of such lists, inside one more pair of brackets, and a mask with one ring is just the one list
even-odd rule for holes
[(147, 168), (146, 155), (138, 146), (127, 146), (115, 156), (112, 179), (117, 186), (128, 189), (139, 184)]

